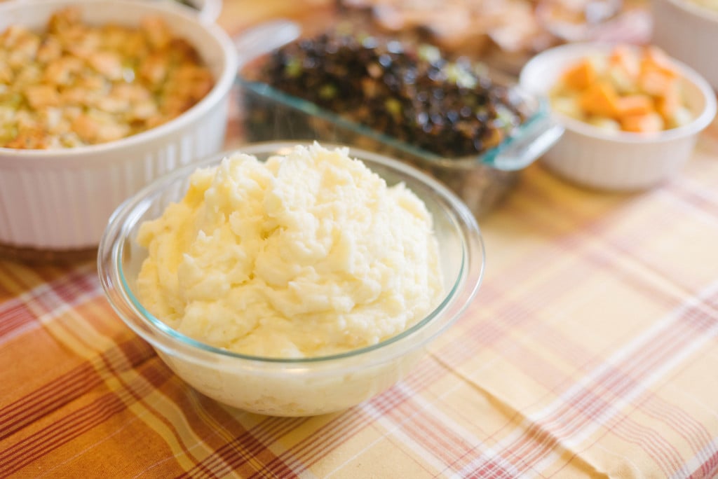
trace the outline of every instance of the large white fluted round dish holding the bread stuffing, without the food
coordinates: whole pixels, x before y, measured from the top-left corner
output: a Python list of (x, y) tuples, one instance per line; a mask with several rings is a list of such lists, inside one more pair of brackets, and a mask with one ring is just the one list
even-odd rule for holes
[(0, 148), (0, 245), (32, 250), (96, 247), (114, 209), (151, 180), (220, 151), (236, 70), (236, 50), (220, 27), (187, 7), (143, 0), (37, 0), (0, 4), (0, 31), (42, 29), (49, 16), (76, 5), (83, 22), (136, 25), (159, 15), (197, 48), (215, 86), (174, 120), (119, 141), (64, 150)]

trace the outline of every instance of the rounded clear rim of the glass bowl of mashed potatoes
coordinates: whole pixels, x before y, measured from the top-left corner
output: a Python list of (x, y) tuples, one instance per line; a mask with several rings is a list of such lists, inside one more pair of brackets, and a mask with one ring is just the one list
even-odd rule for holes
[[(450, 324), (456, 321), (456, 319), (461, 315), (463, 310), (465, 310), (467, 305), (469, 305), (471, 300), (475, 297), (477, 290), (482, 283), (482, 279), (485, 273), (486, 258), (483, 237), (480, 232), (480, 228), (476, 222), (476, 219), (472, 215), (468, 207), (446, 186), (442, 185), (441, 183), (439, 183), (439, 181), (433, 179), (427, 174), (424, 174), (424, 172), (414, 168), (413, 166), (409, 166), (406, 163), (398, 161), (394, 158), (390, 158), (388, 156), (381, 155), (379, 153), (372, 153), (370, 151), (362, 150), (361, 148), (354, 148), (352, 146), (324, 142), (322, 142), (321, 145), (325, 148), (348, 148), (349, 156), (351, 156), (352, 158), (359, 158), (362, 161), (368, 159), (371, 162), (380, 163), (382, 166), (388, 166), (388, 168), (403, 176), (409, 176), (414, 180), (418, 180), (421, 184), (428, 186), (429, 189), (434, 192), (434, 194), (438, 194), (438, 196), (440, 196), (449, 205), (449, 209), (453, 213), (452, 222), (456, 225), (456, 231), (461, 238), (462, 258), (457, 278), (454, 280), (452, 288), (446, 293), (444, 293), (444, 298), (442, 299), (441, 303), (439, 303), (439, 305), (437, 305), (430, 313), (421, 318), (420, 321), (412, 325), (410, 328), (407, 328), (401, 333), (398, 333), (395, 336), (391, 336), (384, 341), (380, 341), (379, 343), (365, 346), (363, 348), (352, 349), (350, 351), (345, 351), (340, 354), (331, 354), (327, 356), (310, 356), (303, 358), (252, 356), (248, 354), (241, 354), (236, 351), (230, 351), (225, 348), (211, 346), (207, 343), (202, 343), (193, 338), (190, 338), (189, 336), (185, 336), (179, 331), (174, 330), (173, 328), (168, 326), (167, 323), (164, 323), (159, 318), (156, 318), (154, 315), (149, 313), (149, 311), (141, 305), (139, 300), (134, 296), (134, 294), (129, 288), (129, 284), (127, 283), (126, 277), (123, 273), (121, 258), (123, 257), (124, 252), (123, 240), (129, 236), (129, 229), (131, 229), (131, 227), (136, 223), (136, 217), (145, 211), (145, 209), (142, 209), (141, 211), (138, 211), (138, 209), (143, 207), (144, 204), (146, 204), (146, 201), (148, 201), (149, 196), (157, 194), (159, 191), (164, 190), (165, 188), (167, 188), (167, 186), (174, 184), (174, 182), (180, 180), (181, 178), (187, 178), (192, 173), (192, 171), (195, 171), (195, 169), (197, 168), (206, 167), (218, 163), (228, 154), (272, 154), (280, 151), (283, 148), (292, 148), (297, 145), (308, 146), (311, 143), (312, 142), (307, 141), (267, 141), (246, 143), (245, 145), (230, 148), (227, 151), (222, 151), (220, 153), (206, 156), (199, 161), (192, 161), (191, 163), (187, 163), (185, 166), (175, 169), (169, 174), (165, 174), (159, 179), (152, 181), (150, 184), (145, 186), (136, 194), (123, 201), (123, 203), (117, 207), (115, 212), (113, 212), (110, 219), (108, 220), (108, 227), (103, 234), (100, 246), (98, 248), (97, 265), (98, 274), (100, 276), (101, 284), (106, 294), (106, 298), (111, 304), (113, 310), (115, 310), (118, 316), (120, 316), (122, 321), (126, 323), (127, 326), (129, 326), (133, 331), (135, 331), (135, 333), (139, 334), (139, 336), (143, 337), (146, 341), (149, 341), (152, 346), (160, 348), (163, 351), (171, 350), (174, 352), (180, 351), (181, 353), (187, 352), (192, 354), (193, 356), (196, 354), (210, 354), (225, 357), (228, 359), (239, 359), (243, 361), (253, 361), (256, 363), (274, 363), (299, 366), (303, 364), (327, 364), (331, 363), (332, 361), (355, 358), (358, 356), (371, 354), (376, 351), (386, 350), (386, 346), (396, 346), (396, 343), (400, 343), (404, 340), (409, 341), (409, 338), (414, 336), (414, 333), (424, 330), (424, 328), (426, 326), (429, 326), (430, 323), (434, 323), (435, 320), (441, 318), (444, 313), (447, 313), (446, 310), (450, 306), (452, 306), (457, 300), (462, 299), (461, 293), (467, 289), (470, 289), (468, 291), (468, 295), (465, 295), (466, 297), (463, 300), (463, 304), (459, 305), (459, 308), (457, 308), (457, 310), (453, 313), (454, 316), (450, 318), (446, 324), (441, 325), (441, 327), (437, 331), (434, 331), (426, 338), (422, 338), (421, 341), (414, 341), (414, 343), (407, 344), (406, 347), (401, 351), (398, 351), (395, 356), (401, 356), (402, 354), (406, 354), (406, 352), (408, 351), (418, 348), (422, 344), (438, 336), (439, 333), (444, 331), (444, 328), (447, 328)], [(422, 201), (424, 200), (422, 199)], [(472, 272), (470, 264), (471, 258), (469, 257), (471, 249), (470, 243), (472, 239), (475, 242), (475, 246), (480, 251), (479, 257), (475, 258), (474, 261), (480, 260), (480, 265), (478, 265), (477, 278), (475, 280), (475, 283), (466, 284), (467, 278), (469, 278), (470, 273)], [(105, 258), (107, 255), (109, 256), (110, 260), (109, 264), (105, 264), (106, 261), (103, 261), (103, 258)], [(463, 288), (461, 288), (462, 286)], [(152, 335), (141, 331), (140, 327), (133, 324), (131, 318), (126, 318), (126, 314), (122, 310), (120, 310), (120, 308), (118, 308), (118, 306), (112, 299), (110, 295), (111, 290), (115, 290), (116, 293), (119, 294), (119, 296), (122, 298), (123, 305), (128, 307), (131, 312), (134, 313), (137, 318), (139, 318), (139, 322), (141, 324), (149, 326), (151, 328), (151, 331), (158, 332), (160, 334), (160, 337), (164, 339), (164, 341), (169, 341), (171, 346), (167, 346), (167, 344), (161, 343), (162, 341), (159, 338), (148, 337)]]

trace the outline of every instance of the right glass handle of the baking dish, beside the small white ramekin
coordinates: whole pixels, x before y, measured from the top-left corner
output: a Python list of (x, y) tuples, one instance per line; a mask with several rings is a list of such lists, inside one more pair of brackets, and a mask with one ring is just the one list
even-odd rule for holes
[(536, 158), (549, 151), (563, 133), (564, 127), (552, 120), (550, 115), (538, 118), (533, 124), (528, 125), (524, 135), (501, 148), (487, 163), (495, 169), (505, 171), (526, 168), (536, 161)]

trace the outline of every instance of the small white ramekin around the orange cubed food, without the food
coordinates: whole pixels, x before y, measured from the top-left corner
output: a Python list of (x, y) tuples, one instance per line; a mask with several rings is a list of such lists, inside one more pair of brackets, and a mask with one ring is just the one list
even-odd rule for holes
[[(538, 54), (521, 71), (529, 93), (546, 95), (564, 70), (578, 60), (607, 54), (611, 44), (566, 44)], [(698, 134), (716, 114), (715, 95), (698, 73), (676, 62), (694, 120), (681, 128), (655, 134), (608, 132), (554, 113), (564, 135), (541, 162), (566, 179), (609, 190), (646, 189), (681, 170), (691, 156)]]

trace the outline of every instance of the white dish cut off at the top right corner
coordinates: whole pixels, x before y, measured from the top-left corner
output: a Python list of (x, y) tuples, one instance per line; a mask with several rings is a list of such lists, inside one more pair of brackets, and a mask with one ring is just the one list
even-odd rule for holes
[(653, 0), (651, 42), (684, 62), (718, 90), (718, 11), (690, 0)]

